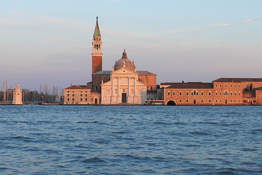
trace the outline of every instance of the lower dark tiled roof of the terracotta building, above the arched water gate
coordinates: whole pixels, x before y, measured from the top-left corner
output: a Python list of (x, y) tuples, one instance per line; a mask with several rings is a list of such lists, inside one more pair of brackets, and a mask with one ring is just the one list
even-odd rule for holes
[(180, 88), (180, 89), (198, 89), (198, 88), (213, 88), (213, 84), (212, 83), (202, 83), (202, 82), (189, 82), (189, 83), (176, 83), (173, 84), (169, 87), (165, 87), (165, 88)]

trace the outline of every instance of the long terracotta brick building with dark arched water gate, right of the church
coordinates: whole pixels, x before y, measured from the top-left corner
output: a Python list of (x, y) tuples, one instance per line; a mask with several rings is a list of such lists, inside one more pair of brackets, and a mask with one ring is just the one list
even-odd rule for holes
[(165, 105), (260, 105), (262, 78), (219, 78), (212, 83), (161, 83)]

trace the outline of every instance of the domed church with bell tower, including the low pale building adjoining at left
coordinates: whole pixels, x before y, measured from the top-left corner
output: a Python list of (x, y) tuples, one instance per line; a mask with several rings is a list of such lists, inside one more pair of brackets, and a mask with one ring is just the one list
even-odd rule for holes
[(148, 98), (147, 92), (155, 94), (150, 96), (155, 100), (156, 74), (137, 71), (134, 61), (127, 58), (125, 49), (122, 57), (112, 64), (112, 70), (102, 69), (102, 37), (97, 17), (91, 55), (92, 81), (87, 86), (65, 88), (64, 104), (143, 105)]

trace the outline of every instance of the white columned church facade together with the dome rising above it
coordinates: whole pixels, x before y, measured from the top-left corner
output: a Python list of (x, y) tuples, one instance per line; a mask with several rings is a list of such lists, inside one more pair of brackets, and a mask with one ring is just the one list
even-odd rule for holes
[(124, 52), (113, 66), (111, 80), (101, 85), (101, 104), (145, 104), (146, 84), (138, 81), (138, 73), (131, 62)]

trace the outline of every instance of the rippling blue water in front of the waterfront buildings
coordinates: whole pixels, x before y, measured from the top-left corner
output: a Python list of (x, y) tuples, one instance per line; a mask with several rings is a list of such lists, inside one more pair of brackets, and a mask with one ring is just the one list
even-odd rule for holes
[(1, 175), (261, 175), (262, 106), (0, 106)]

